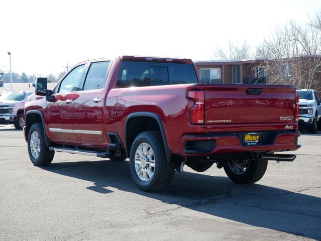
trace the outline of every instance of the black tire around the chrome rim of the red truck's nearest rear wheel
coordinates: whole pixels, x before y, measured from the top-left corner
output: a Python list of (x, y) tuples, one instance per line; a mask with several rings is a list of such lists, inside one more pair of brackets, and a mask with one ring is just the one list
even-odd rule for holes
[[(140, 179), (135, 168), (135, 153), (140, 144), (147, 143), (155, 159), (154, 174), (148, 181)], [(174, 164), (166, 159), (163, 140), (159, 132), (143, 132), (134, 140), (130, 153), (130, 169), (135, 184), (145, 192), (157, 192), (165, 189), (173, 180)]]

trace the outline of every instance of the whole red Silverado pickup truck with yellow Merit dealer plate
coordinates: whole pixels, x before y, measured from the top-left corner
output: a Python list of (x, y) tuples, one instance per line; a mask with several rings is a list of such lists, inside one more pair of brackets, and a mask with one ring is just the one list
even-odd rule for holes
[[(213, 163), (236, 183), (260, 180), (267, 161), (293, 161), (299, 98), (294, 86), (202, 84), (189, 59), (122, 56), (81, 62), (25, 105), (34, 165), (55, 152), (130, 159), (144, 191), (168, 186), (184, 165)], [(116, 165), (116, 164), (115, 164)]]

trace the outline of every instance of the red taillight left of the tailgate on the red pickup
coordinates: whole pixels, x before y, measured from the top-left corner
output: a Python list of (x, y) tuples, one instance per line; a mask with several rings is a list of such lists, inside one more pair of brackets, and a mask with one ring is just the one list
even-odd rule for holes
[(190, 109), (190, 123), (204, 124), (204, 91), (190, 90), (187, 96), (194, 100), (194, 105)]

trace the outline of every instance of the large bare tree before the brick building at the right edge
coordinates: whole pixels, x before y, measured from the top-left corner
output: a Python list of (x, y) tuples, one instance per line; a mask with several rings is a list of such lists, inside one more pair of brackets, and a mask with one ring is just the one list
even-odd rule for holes
[[(320, 15), (318, 15), (320, 16)], [(268, 82), (293, 84), (298, 88), (316, 88), (321, 68), (321, 35), (315, 27), (319, 18), (305, 26), (290, 21), (276, 28), (257, 48), (258, 57), (264, 58)]]

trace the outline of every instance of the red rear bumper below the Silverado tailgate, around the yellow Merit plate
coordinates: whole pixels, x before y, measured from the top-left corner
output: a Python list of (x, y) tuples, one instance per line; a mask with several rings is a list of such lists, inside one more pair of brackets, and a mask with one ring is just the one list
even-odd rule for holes
[(269, 134), (269, 140), (256, 146), (244, 145), (243, 134), (185, 135), (179, 143), (180, 153), (182, 156), (201, 157), (221, 153), (295, 151), (300, 147), (297, 145), (299, 132), (261, 132)]

